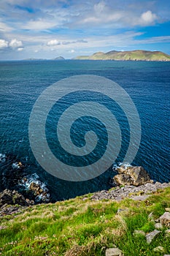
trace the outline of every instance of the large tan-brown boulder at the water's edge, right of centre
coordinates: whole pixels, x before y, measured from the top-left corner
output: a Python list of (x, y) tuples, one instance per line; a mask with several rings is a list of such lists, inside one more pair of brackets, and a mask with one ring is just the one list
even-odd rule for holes
[(142, 166), (128, 166), (124, 165), (117, 168), (118, 174), (114, 177), (115, 184), (128, 186), (141, 186), (147, 183), (153, 183), (149, 174)]

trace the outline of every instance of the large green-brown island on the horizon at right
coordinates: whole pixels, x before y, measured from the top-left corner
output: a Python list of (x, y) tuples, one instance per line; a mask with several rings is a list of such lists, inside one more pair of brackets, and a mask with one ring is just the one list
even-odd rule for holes
[(170, 61), (170, 55), (161, 51), (150, 50), (111, 50), (108, 53), (97, 52), (91, 56), (77, 56), (77, 60), (112, 60), (112, 61)]

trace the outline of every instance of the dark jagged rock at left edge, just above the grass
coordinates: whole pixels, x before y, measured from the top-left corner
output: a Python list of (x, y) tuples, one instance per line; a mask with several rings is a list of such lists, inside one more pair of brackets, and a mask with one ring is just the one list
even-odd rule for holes
[(29, 206), (33, 202), (26, 200), (23, 195), (18, 193), (17, 191), (5, 189), (3, 192), (0, 193), (0, 207), (7, 205), (20, 205), (20, 206)]

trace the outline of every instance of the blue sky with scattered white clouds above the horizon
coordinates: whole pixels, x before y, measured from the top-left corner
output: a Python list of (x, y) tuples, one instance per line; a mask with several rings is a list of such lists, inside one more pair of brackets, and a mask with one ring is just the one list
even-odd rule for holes
[(138, 49), (170, 54), (169, 0), (0, 0), (0, 60)]

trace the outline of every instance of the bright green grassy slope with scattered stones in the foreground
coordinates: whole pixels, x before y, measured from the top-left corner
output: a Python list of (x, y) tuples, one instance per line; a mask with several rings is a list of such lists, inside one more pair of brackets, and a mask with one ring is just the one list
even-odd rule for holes
[[(143, 236), (134, 238), (134, 230), (150, 232), (155, 218), (170, 206), (170, 188), (156, 192), (144, 202), (125, 199), (92, 201), (90, 195), (63, 202), (31, 206), (23, 213), (0, 219), (1, 255), (105, 255), (114, 244), (124, 255), (164, 255), (152, 251), (163, 246), (170, 254), (170, 237), (164, 232), (150, 245)], [(117, 214), (117, 209), (122, 208)], [(79, 253), (78, 253), (79, 252)], [(77, 254), (76, 254), (77, 253)]]

